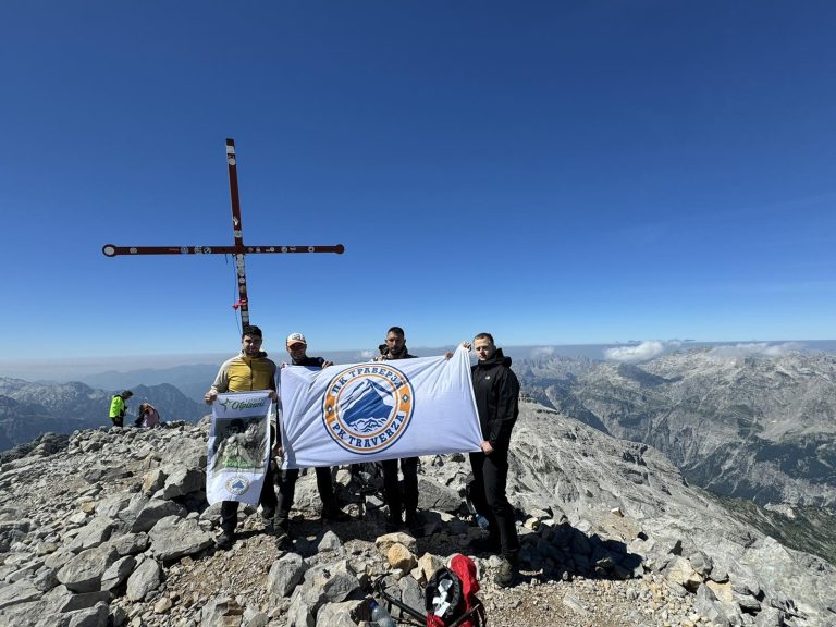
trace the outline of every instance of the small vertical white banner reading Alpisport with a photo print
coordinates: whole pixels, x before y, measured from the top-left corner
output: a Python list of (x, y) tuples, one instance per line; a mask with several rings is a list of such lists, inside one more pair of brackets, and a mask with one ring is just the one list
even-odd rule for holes
[(206, 499), (257, 505), (270, 459), (270, 392), (218, 394), (212, 404)]

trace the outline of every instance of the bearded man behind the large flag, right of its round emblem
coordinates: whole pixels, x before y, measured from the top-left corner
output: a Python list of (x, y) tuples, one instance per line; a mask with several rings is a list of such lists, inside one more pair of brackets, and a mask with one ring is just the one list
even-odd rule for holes
[[(386, 331), (385, 344), (380, 345), (380, 356), (377, 361), (392, 359), (411, 359), (406, 347), (406, 335), (401, 327), (392, 327)], [(414, 534), (421, 534), (418, 521), (418, 457), (401, 459), (401, 470), (404, 474), (404, 493), (401, 495), (401, 483), (397, 480), (397, 459), (381, 462), (383, 468), (383, 495), (389, 505), (386, 531), (396, 531), (404, 524), (401, 516), (406, 513), (406, 526)]]

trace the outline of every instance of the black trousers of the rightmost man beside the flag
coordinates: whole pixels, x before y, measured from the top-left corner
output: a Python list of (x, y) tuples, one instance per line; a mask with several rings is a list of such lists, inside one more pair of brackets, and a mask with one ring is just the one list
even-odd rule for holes
[(502, 554), (512, 556), (519, 551), (514, 508), (505, 496), (508, 480), (508, 450), (494, 450), (490, 455), (470, 453), (474, 485), (470, 500), (474, 507), (488, 519), (488, 532), (499, 538)]

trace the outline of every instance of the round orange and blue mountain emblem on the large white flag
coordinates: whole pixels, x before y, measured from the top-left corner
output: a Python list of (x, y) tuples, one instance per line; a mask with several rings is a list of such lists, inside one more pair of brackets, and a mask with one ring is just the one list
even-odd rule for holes
[(352, 366), (328, 384), (322, 419), (328, 434), (346, 451), (385, 451), (409, 427), (413, 384), (392, 366)]

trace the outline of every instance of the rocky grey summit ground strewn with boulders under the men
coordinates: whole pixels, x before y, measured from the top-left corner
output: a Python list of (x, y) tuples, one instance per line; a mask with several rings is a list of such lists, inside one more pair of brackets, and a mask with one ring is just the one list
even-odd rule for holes
[(747, 526), (655, 448), (539, 404), (522, 404), (513, 438), (511, 588), (493, 583), (496, 556), (469, 550), (483, 531), (463, 503), (466, 455), (421, 458), (418, 530), (384, 533), (367, 465), (334, 470), (344, 520), (320, 519), (308, 472), (287, 550), (242, 507), (220, 551), (207, 435), (206, 420), (75, 431), (4, 462), (0, 625), (369, 627), (372, 594), (422, 612), (428, 578), (458, 553), (491, 626), (836, 625), (831, 564)]

